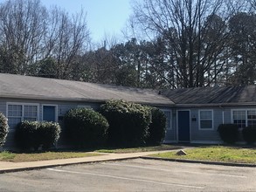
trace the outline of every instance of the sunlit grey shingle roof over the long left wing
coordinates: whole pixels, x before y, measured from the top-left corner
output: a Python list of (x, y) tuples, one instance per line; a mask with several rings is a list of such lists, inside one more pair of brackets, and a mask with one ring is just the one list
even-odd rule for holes
[(174, 105), (170, 99), (149, 89), (5, 73), (0, 73), (0, 97), (92, 102), (102, 102), (106, 99), (125, 99), (142, 104)]

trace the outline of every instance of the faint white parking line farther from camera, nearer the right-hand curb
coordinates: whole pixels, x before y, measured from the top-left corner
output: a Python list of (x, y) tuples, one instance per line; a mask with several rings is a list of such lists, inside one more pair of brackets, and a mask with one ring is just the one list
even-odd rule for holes
[[(167, 169), (162, 169), (162, 168), (150, 168), (146, 166), (135, 166), (135, 165), (124, 165), (124, 164), (119, 164), (119, 163), (104, 163), (105, 165), (110, 165), (110, 166), (121, 166), (121, 167), (129, 167), (129, 168), (145, 168), (145, 169), (151, 169), (151, 170), (157, 170), (157, 171), (164, 171), (164, 172), (173, 172), (173, 170), (167, 170)], [(181, 172), (181, 171), (179, 171)], [(195, 172), (195, 171), (182, 171), (183, 173), (188, 173), (188, 174), (204, 174), (204, 175), (216, 175), (214, 173), (206, 173), (206, 172)], [(231, 175), (231, 174), (218, 174), (222, 176), (228, 176), (228, 177), (238, 177), (238, 178), (247, 178), (245, 175)]]

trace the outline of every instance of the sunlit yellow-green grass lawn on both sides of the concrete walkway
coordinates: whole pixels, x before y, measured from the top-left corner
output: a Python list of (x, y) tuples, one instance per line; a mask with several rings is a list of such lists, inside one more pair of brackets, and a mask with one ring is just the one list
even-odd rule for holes
[[(136, 153), (145, 151), (170, 150), (179, 146), (161, 145), (152, 147), (128, 147), (128, 148), (102, 148), (97, 150), (85, 151), (65, 151), (65, 152), (42, 152), (18, 154), (1, 152), (0, 161), (43, 161), (67, 158), (88, 157), (100, 155), (99, 153)], [(186, 149), (187, 155), (176, 155), (176, 152), (152, 154), (150, 156), (171, 159), (189, 159), (202, 161), (224, 161), (224, 162), (246, 162), (256, 164), (256, 149), (243, 147), (195, 147)]]

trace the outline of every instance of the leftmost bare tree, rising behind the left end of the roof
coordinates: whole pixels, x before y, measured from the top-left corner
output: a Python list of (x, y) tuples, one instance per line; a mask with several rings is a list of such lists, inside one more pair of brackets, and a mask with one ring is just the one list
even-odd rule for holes
[(38, 0), (7, 1), (0, 7), (0, 37), (10, 72), (25, 74), (41, 58), (46, 10)]

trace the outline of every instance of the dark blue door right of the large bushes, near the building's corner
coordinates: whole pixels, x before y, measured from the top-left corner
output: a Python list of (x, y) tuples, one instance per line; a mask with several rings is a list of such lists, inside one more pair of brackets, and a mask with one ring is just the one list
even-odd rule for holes
[(178, 141), (190, 142), (190, 111), (177, 112)]

